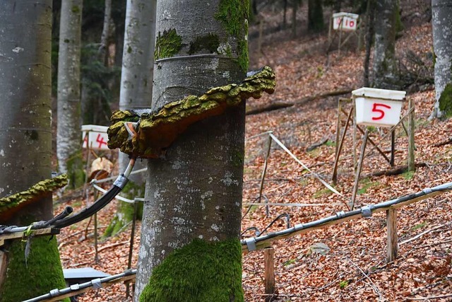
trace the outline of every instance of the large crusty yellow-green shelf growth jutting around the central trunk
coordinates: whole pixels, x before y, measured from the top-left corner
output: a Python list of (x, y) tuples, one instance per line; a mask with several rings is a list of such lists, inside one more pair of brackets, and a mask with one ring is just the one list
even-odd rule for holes
[[(108, 129), (108, 147), (141, 158), (157, 158), (194, 122), (221, 115), (246, 98), (261, 98), (275, 91), (275, 74), (270, 67), (260, 69), (242, 83), (215, 87), (201, 96), (189, 95), (168, 103), (157, 112), (123, 110), (113, 112)], [(138, 122), (137, 135), (129, 139), (125, 122)]]

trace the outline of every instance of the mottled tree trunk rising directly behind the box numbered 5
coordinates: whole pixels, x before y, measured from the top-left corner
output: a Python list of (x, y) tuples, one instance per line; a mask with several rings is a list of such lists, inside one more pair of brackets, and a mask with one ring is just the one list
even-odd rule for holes
[(373, 81), (375, 88), (400, 88), (395, 48), (397, 15), (397, 0), (376, 0)]

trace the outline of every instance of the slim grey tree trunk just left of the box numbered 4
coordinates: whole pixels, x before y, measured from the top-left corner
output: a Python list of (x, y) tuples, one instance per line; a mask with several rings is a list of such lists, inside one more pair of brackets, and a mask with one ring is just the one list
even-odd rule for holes
[[(80, 53), (82, 0), (63, 0), (59, 25), (57, 158), (59, 172), (81, 149)], [(80, 157), (80, 156), (79, 156)], [(75, 168), (72, 167), (71, 168)], [(71, 174), (72, 171), (69, 171)]]

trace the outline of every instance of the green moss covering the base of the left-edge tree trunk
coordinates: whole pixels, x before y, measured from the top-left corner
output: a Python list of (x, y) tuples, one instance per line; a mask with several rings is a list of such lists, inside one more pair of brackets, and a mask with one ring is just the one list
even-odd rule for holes
[[(25, 263), (25, 243), (13, 240), (8, 246), (8, 268), (0, 289), (0, 302), (23, 301), (66, 287), (57, 238), (32, 238), (30, 249)], [(69, 302), (69, 298), (62, 301)]]

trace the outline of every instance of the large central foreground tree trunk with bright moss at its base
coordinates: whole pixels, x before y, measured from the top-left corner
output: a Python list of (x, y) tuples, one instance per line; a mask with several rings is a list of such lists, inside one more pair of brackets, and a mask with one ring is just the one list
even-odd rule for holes
[[(153, 110), (244, 79), (248, 9), (157, 1)], [(135, 301), (243, 301), (243, 159), (244, 102), (149, 160)]]

